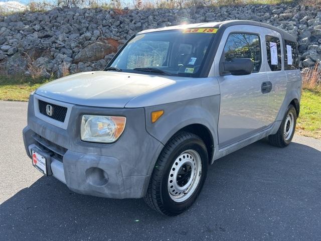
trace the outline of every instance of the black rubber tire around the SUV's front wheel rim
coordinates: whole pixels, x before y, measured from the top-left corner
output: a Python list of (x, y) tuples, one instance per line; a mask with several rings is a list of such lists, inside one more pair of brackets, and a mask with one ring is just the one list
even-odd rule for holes
[[(187, 150), (193, 150), (199, 154), (202, 169), (199, 173), (198, 185), (195, 184), (195, 190), (191, 191), (191, 196), (183, 202), (176, 202), (169, 194), (169, 176), (175, 160)], [(166, 144), (157, 159), (146, 196), (144, 197), (145, 202), (152, 209), (168, 216), (175, 216), (184, 212), (194, 203), (202, 190), (206, 179), (208, 162), (207, 149), (200, 137), (188, 132), (181, 132), (175, 135)]]

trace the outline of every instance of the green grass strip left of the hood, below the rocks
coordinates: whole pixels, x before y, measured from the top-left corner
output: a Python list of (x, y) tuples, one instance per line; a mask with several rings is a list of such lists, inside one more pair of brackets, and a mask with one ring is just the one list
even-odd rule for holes
[(32, 91), (50, 80), (26, 76), (0, 76), (0, 100), (28, 101)]

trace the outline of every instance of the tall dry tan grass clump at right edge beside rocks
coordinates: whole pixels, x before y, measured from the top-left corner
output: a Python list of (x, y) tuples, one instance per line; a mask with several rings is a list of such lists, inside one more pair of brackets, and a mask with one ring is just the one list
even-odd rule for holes
[(316, 62), (314, 67), (305, 68), (302, 71), (302, 87), (303, 89), (315, 89), (321, 84), (321, 66)]

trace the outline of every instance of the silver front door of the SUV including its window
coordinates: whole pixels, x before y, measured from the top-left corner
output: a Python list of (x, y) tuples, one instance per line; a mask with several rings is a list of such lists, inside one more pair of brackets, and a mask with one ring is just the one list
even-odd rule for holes
[(253, 73), (249, 75), (231, 75), (220, 71), (220, 149), (250, 137), (271, 124), (268, 116), (269, 91), (268, 87), (264, 87), (270, 82), (265, 68), (261, 68), (265, 54), (259, 27), (245, 26), (244, 32), (242, 29), (242, 26), (228, 28), (224, 33), (225, 40), (224, 35), (222, 37), (224, 48), (218, 52), (220, 61), (250, 58), (254, 64)]

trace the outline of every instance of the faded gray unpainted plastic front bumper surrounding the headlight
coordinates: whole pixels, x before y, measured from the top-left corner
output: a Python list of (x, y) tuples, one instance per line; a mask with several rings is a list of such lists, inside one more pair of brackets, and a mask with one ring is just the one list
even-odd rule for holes
[[(42, 148), (35, 135), (67, 149), (62, 162), (49, 157), (53, 176), (71, 190), (108, 198), (141, 198), (163, 144), (145, 129), (144, 108), (97, 108), (74, 105), (67, 130), (53, 126), (34, 114), (33, 98), (28, 105), (28, 126), (23, 130), (29, 157), (33, 146)], [(82, 114), (121, 115), (127, 117), (119, 140), (112, 144), (80, 140)], [(102, 170), (98, 171), (97, 170)]]

